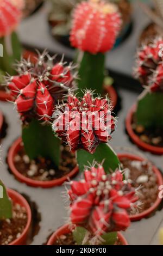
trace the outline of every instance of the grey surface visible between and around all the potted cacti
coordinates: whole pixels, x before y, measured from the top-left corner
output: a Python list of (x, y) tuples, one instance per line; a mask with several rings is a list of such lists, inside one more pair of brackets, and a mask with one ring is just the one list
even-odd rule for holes
[[(134, 1), (134, 10), (134, 29), (132, 34), (121, 46), (107, 55), (108, 68), (128, 75), (132, 72), (134, 54), (140, 32), (148, 23), (148, 19), (144, 17), (142, 11), (137, 7), (137, 1)], [(33, 46), (33, 48), (48, 48), (49, 51), (65, 53), (68, 57), (72, 57), (73, 51), (55, 42), (49, 34), (46, 22), (47, 11), (48, 9), (44, 7), (34, 16), (23, 21), (19, 29), (21, 41), (28, 46)], [(136, 145), (129, 141), (125, 133), (124, 119), (129, 108), (135, 102), (137, 94), (121, 88), (118, 89), (118, 92), (122, 97), (122, 110), (118, 113), (117, 130), (113, 134), (111, 145), (116, 151), (120, 151), (120, 147), (122, 147), (123, 151), (127, 150), (136, 154), (143, 154), (143, 156), (148, 157), (149, 160), (153, 161), (156, 166), (163, 170), (163, 156), (154, 156), (137, 149)], [(1, 178), (8, 187), (15, 188), (20, 193), (27, 194), (37, 204), (38, 210), (41, 213), (40, 231), (34, 237), (32, 245), (41, 245), (46, 241), (52, 231), (65, 223), (67, 212), (64, 202), (61, 199), (61, 192), (64, 191), (64, 186), (50, 189), (28, 187), (26, 184), (15, 180), (14, 176), (9, 174), (5, 159), (12, 141), (18, 136), (21, 136), (21, 124), (12, 104), (0, 102), (0, 109), (9, 124), (7, 137), (3, 139), (1, 147), (3, 162), (1, 166)], [(153, 217), (147, 220), (131, 223), (130, 228), (124, 232), (124, 236), (126, 236), (130, 245), (157, 244), (157, 233), (160, 225), (163, 226), (163, 210), (156, 212)]]

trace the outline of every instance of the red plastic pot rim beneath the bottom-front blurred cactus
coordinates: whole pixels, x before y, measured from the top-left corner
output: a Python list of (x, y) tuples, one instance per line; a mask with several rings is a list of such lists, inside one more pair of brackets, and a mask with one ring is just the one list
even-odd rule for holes
[[(68, 234), (71, 231), (72, 229), (70, 229), (69, 224), (63, 225), (53, 233), (53, 235), (49, 238), (47, 245), (54, 245), (59, 236)], [(122, 242), (123, 245), (128, 245), (128, 242), (120, 232), (118, 232), (118, 239)]]

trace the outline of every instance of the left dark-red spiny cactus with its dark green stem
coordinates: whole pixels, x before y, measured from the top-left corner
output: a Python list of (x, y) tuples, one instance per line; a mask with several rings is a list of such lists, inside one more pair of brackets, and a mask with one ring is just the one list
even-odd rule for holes
[(22, 120), (22, 139), (30, 159), (39, 156), (51, 159), (55, 166), (60, 161), (60, 142), (53, 136), (52, 114), (58, 100), (74, 86), (74, 66), (64, 58), (53, 64), (55, 57), (44, 51), (35, 63), (22, 59), (17, 64), (17, 75), (6, 77), (8, 89)]

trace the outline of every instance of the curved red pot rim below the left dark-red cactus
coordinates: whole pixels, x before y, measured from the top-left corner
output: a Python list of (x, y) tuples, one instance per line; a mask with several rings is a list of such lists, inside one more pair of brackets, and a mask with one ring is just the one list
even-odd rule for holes
[(50, 180), (50, 181), (40, 181), (40, 180), (33, 180), (30, 178), (27, 178), (26, 176), (22, 175), (20, 172), (15, 167), (14, 164), (14, 157), (17, 154), (17, 152), (21, 149), (21, 142), (22, 139), (18, 138), (10, 147), (9, 152), (8, 152), (8, 164), (11, 172), (16, 176), (16, 179), (26, 183), (28, 186), (32, 187), (54, 187), (54, 186), (59, 186), (63, 184), (67, 179), (71, 179), (74, 175), (76, 175), (79, 172), (79, 168), (76, 166), (73, 170), (71, 170), (70, 173), (67, 175), (55, 179), (55, 180)]

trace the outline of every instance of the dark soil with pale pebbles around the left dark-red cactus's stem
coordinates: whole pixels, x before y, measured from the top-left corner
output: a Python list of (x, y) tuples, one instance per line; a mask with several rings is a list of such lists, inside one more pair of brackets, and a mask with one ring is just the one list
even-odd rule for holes
[(61, 146), (61, 160), (58, 169), (54, 168), (51, 160), (46, 160), (43, 157), (30, 161), (22, 145), (15, 155), (14, 164), (18, 172), (27, 178), (38, 181), (51, 181), (67, 175), (77, 165), (75, 155), (66, 146)]

